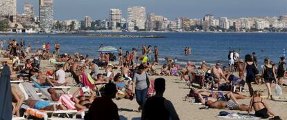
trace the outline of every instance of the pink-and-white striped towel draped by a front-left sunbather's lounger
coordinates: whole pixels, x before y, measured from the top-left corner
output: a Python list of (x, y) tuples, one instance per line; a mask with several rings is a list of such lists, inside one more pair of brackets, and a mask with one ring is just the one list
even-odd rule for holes
[(69, 110), (76, 110), (75, 102), (71, 101), (72, 99), (71, 94), (62, 94), (58, 100), (59, 103), (62, 103), (66, 106)]

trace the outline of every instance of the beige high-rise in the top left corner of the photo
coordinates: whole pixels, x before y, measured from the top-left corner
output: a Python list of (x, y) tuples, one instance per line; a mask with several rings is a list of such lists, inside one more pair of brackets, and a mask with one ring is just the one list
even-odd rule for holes
[(0, 17), (6, 17), (12, 22), (16, 22), (17, 0), (0, 0)]

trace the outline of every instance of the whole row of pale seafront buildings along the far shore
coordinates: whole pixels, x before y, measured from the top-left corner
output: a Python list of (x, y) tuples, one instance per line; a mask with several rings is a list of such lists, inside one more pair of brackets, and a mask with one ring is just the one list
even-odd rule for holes
[[(171, 31), (171, 32), (287, 32), (287, 15), (279, 17), (216, 17), (205, 14), (200, 19), (176, 17), (168, 19), (161, 14), (149, 12), (142, 6), (129, 6), (126, 19), (120, 9), (110, 9), (107, 18), (92, 21), (86, 16), (82, 21), (70, 19), (54, 21), (53, 0), (39, 0), (39, 14), (25, 0), (24, 13), (17, 14), (17, 0), (0, 0), (0, 22), (8, 19), (7, 31), (61, 32), (71, 30), (112, 30), (112, 31)], [(188, 15), (188, 14), (187, 14)], [(19, 30), (21, 29), (21, 30)], [(17, 31), (17, 30), (16, 30)]]

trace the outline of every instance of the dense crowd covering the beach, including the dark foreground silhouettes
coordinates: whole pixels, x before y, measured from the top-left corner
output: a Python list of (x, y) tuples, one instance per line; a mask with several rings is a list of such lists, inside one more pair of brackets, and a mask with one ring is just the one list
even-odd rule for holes
[[(243, 61), (238, 52), (231, 50), (228, 68), (222, 67), (219, 61), (216, 66), (207, 66), (206, 61), (200, 66), (192, 61), (180, 66), (177, 58), (172, 57), (166, 57), (160, 65), (157, 46), (142, 45), (141, 53), (137, 48), (125, 52), (119, 48), (116, 52), (99, 52), (98, 58), (91, 59), (78, 52), (60, 51), (60, 43), (54, 43), (52, 49), (49, 42), (42, 43), (41, 48), (26, 46), (24, 40), (9, 39), (7, 47), (5, 43), (0, 41), (1, 57), (8, 59), (2, 61), (1, 76), (9, 71), (9, 83), (19, 85), (6, 86), (10, 89), (14, 117), (30, 114), (43, 118), (37, 110), (75, 110), (85, 114), (82, 119), (119, 119), (118, 107), (112, 99), (130, 99), (131, 102), (136, 99), (135, 109), (141, 112), (141, 119), (180, 119), (173, 103), (164, 98), (166, 80), (161, 76), (173, 76), (190, 88), (185, 98), (202, 103), (205, 105), (202, 109), (241, 110), (247, 114), (254, 111), (255, 117), (280, 119), (263, 99), (261, 91), (252, 88), (252, 83), (265, 83), (267, 99), (274, 100), (272, 86), (276, 86), (278, 94), (285, 86), (282, 82), (286, 75), (284, 57), (280, 57), (278, 66), (268, 58), (264, 59), (265, 65), (259, 66), (255, 52), (246, 54)], [(191, 48), (186, 47), (184, 54), (191, 54)], [(43, 61), (49, 61), (53, 68), (45, 68)], [(158, 77), (150, 79), (150, 76)], [(68, 77), (73, 79), (72, 83)], [(69, 88), (75, 92), (64, 91)], [(243, 91), (250, 94), (243, 95)], [(43, 96), (36, 97), (37, 92)], [(239, 103), (238, 99), (250, 99), (250, 104)]]

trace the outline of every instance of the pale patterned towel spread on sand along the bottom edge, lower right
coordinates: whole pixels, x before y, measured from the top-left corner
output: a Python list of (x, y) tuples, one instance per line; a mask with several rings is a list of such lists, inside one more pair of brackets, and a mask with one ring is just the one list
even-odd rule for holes
[(227, 114), (226, 116), (216, 116), (216, 117), (220, 117), (223, 119), (260, 119), (259, 117), (254, 117), (252, 115), (245, 115), (245, 114), (238, 114), (238, 113), (230, 113)]

